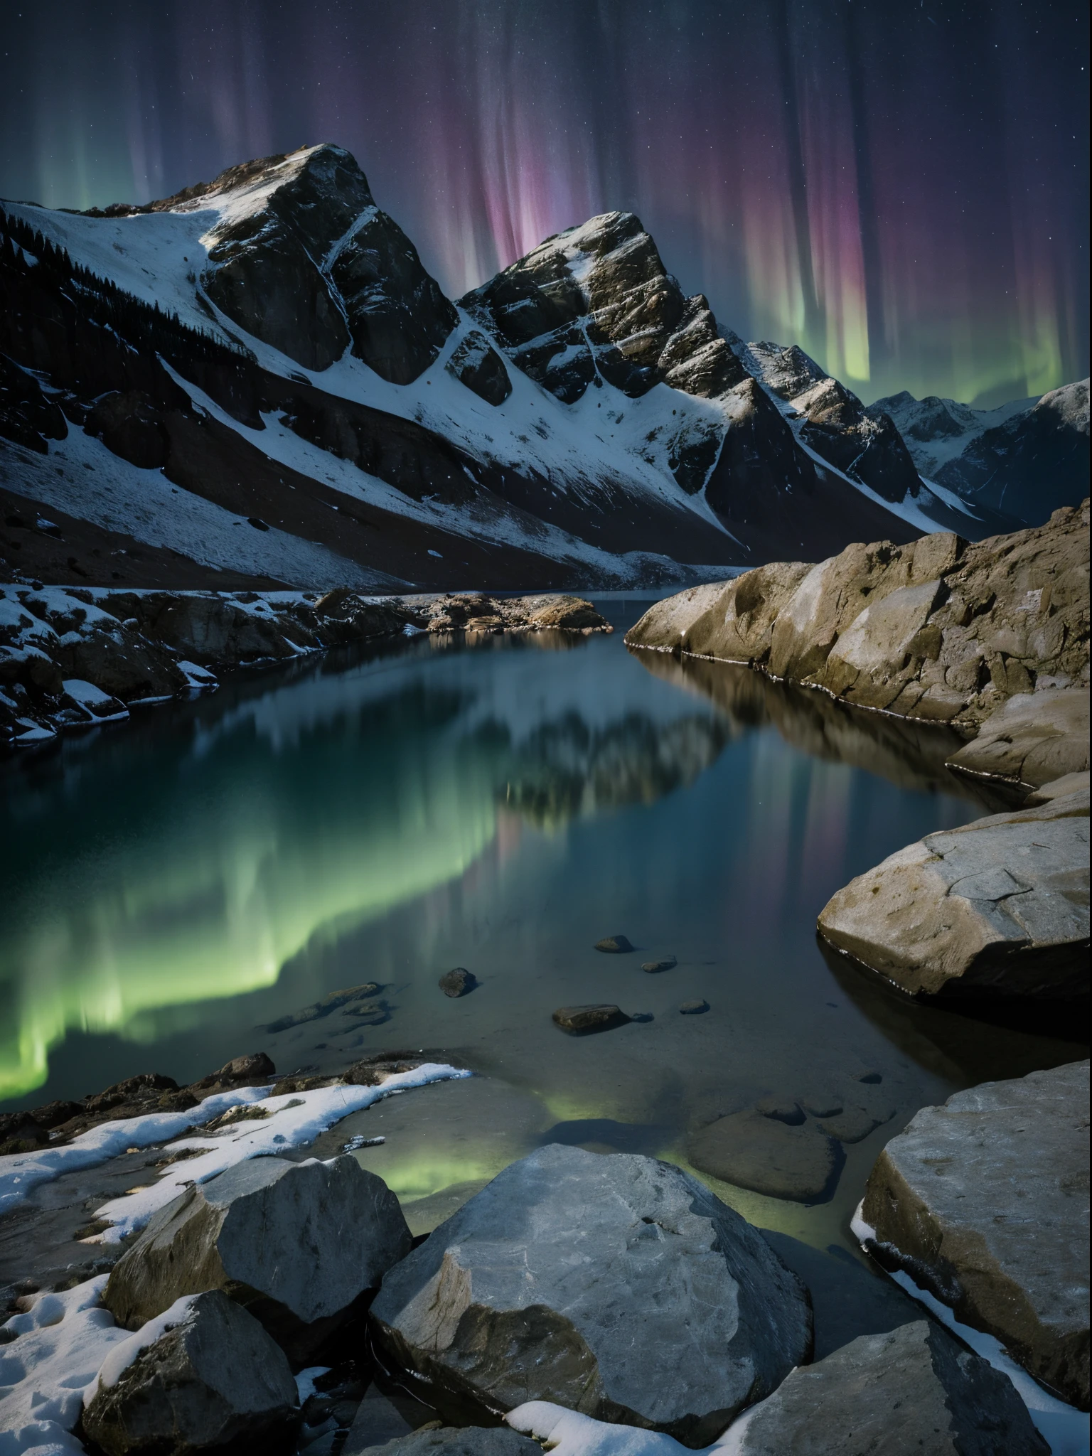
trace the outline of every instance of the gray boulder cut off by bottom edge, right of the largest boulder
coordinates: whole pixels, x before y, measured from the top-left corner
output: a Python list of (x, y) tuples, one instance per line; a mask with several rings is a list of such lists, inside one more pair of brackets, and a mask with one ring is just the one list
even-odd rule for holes
[(794, 1370), (732, 1428), (732, 1456), (1048, 1456), (1008, 1376), (926, 1321)]

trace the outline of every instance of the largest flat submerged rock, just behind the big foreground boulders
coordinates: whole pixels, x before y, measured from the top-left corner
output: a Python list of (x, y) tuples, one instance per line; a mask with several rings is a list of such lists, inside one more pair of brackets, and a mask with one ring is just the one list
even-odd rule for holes
[(759, 1108), (729, 1112), (692, 1133), (686, 1153), (695, 1168), (722, 1182), (795, 1203), (830, 1198), (846, 1160), (839, 1142), (802, 1112), (786, 1121), (778, 1109)]

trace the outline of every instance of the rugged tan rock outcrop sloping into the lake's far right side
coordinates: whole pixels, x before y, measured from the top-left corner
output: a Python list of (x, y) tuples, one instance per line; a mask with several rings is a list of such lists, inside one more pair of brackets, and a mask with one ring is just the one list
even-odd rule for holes
[(626, 642), (976, 728), (1016, 693), (1088, 683), (1088, 524), (1085, 502), (978, 543), (938, 533), (775, 562), (657, 603)]

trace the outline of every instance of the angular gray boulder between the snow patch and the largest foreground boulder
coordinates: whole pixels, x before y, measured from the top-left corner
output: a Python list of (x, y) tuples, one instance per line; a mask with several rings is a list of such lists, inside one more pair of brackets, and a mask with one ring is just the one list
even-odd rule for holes
[(160, 1208), (103, 1305), (137, 1329), (182, 1294), (223, 1289), (306, 1360), (411, 1243), (397, 1198), (355, 1158), (255, 1158)]

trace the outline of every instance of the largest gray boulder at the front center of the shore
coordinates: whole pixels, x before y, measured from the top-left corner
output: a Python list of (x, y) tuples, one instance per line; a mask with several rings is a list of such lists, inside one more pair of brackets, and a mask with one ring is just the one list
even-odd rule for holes
[(550, 1144), (383, 1280), (387, 1354), (430, 1401), (553, 1401), (705, 1446), (811, 1350), (808, 1296), (695, 1178)]

